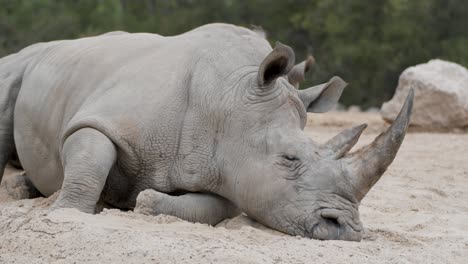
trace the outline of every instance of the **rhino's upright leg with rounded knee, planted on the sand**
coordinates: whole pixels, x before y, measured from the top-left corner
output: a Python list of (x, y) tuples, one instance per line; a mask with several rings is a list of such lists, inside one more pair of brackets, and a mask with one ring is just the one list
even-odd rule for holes
[(83, 128), (70, 135), (63, 146), (64, 181), (60, 195), (52, 206), (76, 208), (95, 213), (117, 151), (109, 138), (92, 128)]

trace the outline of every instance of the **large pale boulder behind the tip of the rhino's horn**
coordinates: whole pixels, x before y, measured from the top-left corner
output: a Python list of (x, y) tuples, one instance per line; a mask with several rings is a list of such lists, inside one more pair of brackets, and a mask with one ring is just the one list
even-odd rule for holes
[(410, 89), (414, 107), (410, 125), (428, 130), (468, 127), (468, 70), (456, 63), (431, 60), (406, 69), (393, 98), (384, 103), (382, 117), (392, 122)]

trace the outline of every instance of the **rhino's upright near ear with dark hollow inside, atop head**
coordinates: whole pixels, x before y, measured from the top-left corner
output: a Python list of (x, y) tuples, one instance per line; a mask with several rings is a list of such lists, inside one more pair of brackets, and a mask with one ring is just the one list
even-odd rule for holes
[(286, 75), (294, 65), (294, 51), (280, 42), (260, 64), (257, 80), (260, 86), (269, 85), (277, 78)]

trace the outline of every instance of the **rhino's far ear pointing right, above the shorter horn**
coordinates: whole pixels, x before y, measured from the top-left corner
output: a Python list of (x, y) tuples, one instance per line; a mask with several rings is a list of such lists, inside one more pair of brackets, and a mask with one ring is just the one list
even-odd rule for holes
[(307, 112), (325, 113), (335, 106), (346, 85), (343, 79), (334, 76), (327, 83), (298, 91), (299, 98)]

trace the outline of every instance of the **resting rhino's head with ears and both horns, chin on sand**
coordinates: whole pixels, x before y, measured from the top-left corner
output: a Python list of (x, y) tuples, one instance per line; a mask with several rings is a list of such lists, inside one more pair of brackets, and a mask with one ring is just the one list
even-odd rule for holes
[[(277, 43), (258, 71), (238, 84), (242, 92), (232, 99), (237, 107), (225, 113), (219, 133), (217, 156), (223, 175), (219, 193), (281, 232), (360, 241), (360, 201), (395, 158), (408, 126), (413, 93), (386, 132), (348, 153), (366, 124), (325, 144), (303, 131), (307, 112), (330, 110), (346, 83), (333, 77), (326, 84), (298, 91), (283, 78), (293, 65), (292, 49)], [(290, 81), (298, 80), (290, 76)]]

